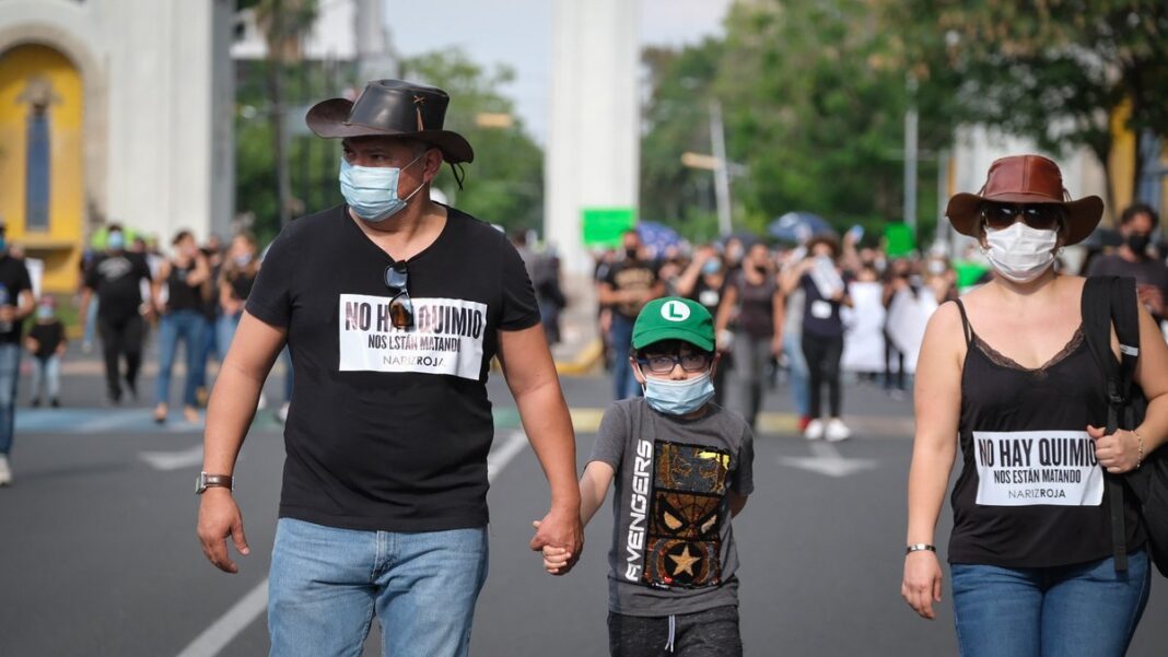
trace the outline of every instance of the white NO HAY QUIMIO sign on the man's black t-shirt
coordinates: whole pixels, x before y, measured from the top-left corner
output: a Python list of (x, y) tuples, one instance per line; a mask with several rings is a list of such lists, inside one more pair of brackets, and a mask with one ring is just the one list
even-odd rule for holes
[(412, 299), (413, 326), (395, 328), (389, 296), (341, 294), (338, 331), (342, 372), (417, 372), (479, 378), (487, 305)]

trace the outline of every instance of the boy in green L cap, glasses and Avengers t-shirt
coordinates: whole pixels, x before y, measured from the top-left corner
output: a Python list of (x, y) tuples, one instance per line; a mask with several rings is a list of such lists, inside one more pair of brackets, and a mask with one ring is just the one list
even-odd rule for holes
[[(610, 653), (739, 657), (730, 519), (755, 490), (753, 434), (737, 413), (710, 403), (717, 356), (704, 307), (677, 298), (651, 301), (637, 319), (632, 347), (645, 398), (609, 406), (580, 477), (585, 523), (609, 487), (616, 490)], [(566, 572), (570, 557), (543, 548), (552, 574)]]

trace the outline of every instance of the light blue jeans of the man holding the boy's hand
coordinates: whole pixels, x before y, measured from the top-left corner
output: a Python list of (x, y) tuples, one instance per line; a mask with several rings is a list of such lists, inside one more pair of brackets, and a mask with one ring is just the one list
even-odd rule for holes
[(269, 583), (271, 655), (360, 655), (376, 614), (382, 655), (463, 657), (486, 579), (486, 527), (355, 531), (280, 518)]

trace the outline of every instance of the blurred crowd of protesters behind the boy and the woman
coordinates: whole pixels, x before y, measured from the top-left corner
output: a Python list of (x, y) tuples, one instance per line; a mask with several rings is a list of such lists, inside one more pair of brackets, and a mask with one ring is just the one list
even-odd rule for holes
[[(1068, 273), (1134, 277), (1141, 301), (1163, 320), (1168, 249), (1153, 243), (1155, 217), (1154, 209), (1132, 205), (1117, 222), (1118, 244), (1089, 240), (1057, 266)], [(652, 299), (683, 296), (715, 317), (722, 355), (716, 401), (755, 426), (767, 382), (781, 375), (805, 438), (848, 439), (841, 371), (904, 399), (915, 345), (932, 309), (993, 275), (971, 240), (960, 256), (974, 265), (974, 275), (960, 285), (946, 251), (889, 256), (883, 243), (864, 240), (858, 229), (842, 238), (808, 236), (801, 244), (735, 236), (653, 250), (631, 230), (619, 250), (596, 253), (598, 327), (614, 397), (642, 393), (621, 347), (637, 313)]]

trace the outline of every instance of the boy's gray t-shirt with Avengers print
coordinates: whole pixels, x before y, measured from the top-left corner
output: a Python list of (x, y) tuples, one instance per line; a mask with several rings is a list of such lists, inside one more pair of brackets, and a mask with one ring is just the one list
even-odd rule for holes
[(737, 413), (707, 410), (683, 420), (634, 398), (600, 421), (589, 460), (617, 473), (611, 611), (668, 616), (738, 603), (728, 492), (755, 489), (753, 436)]

